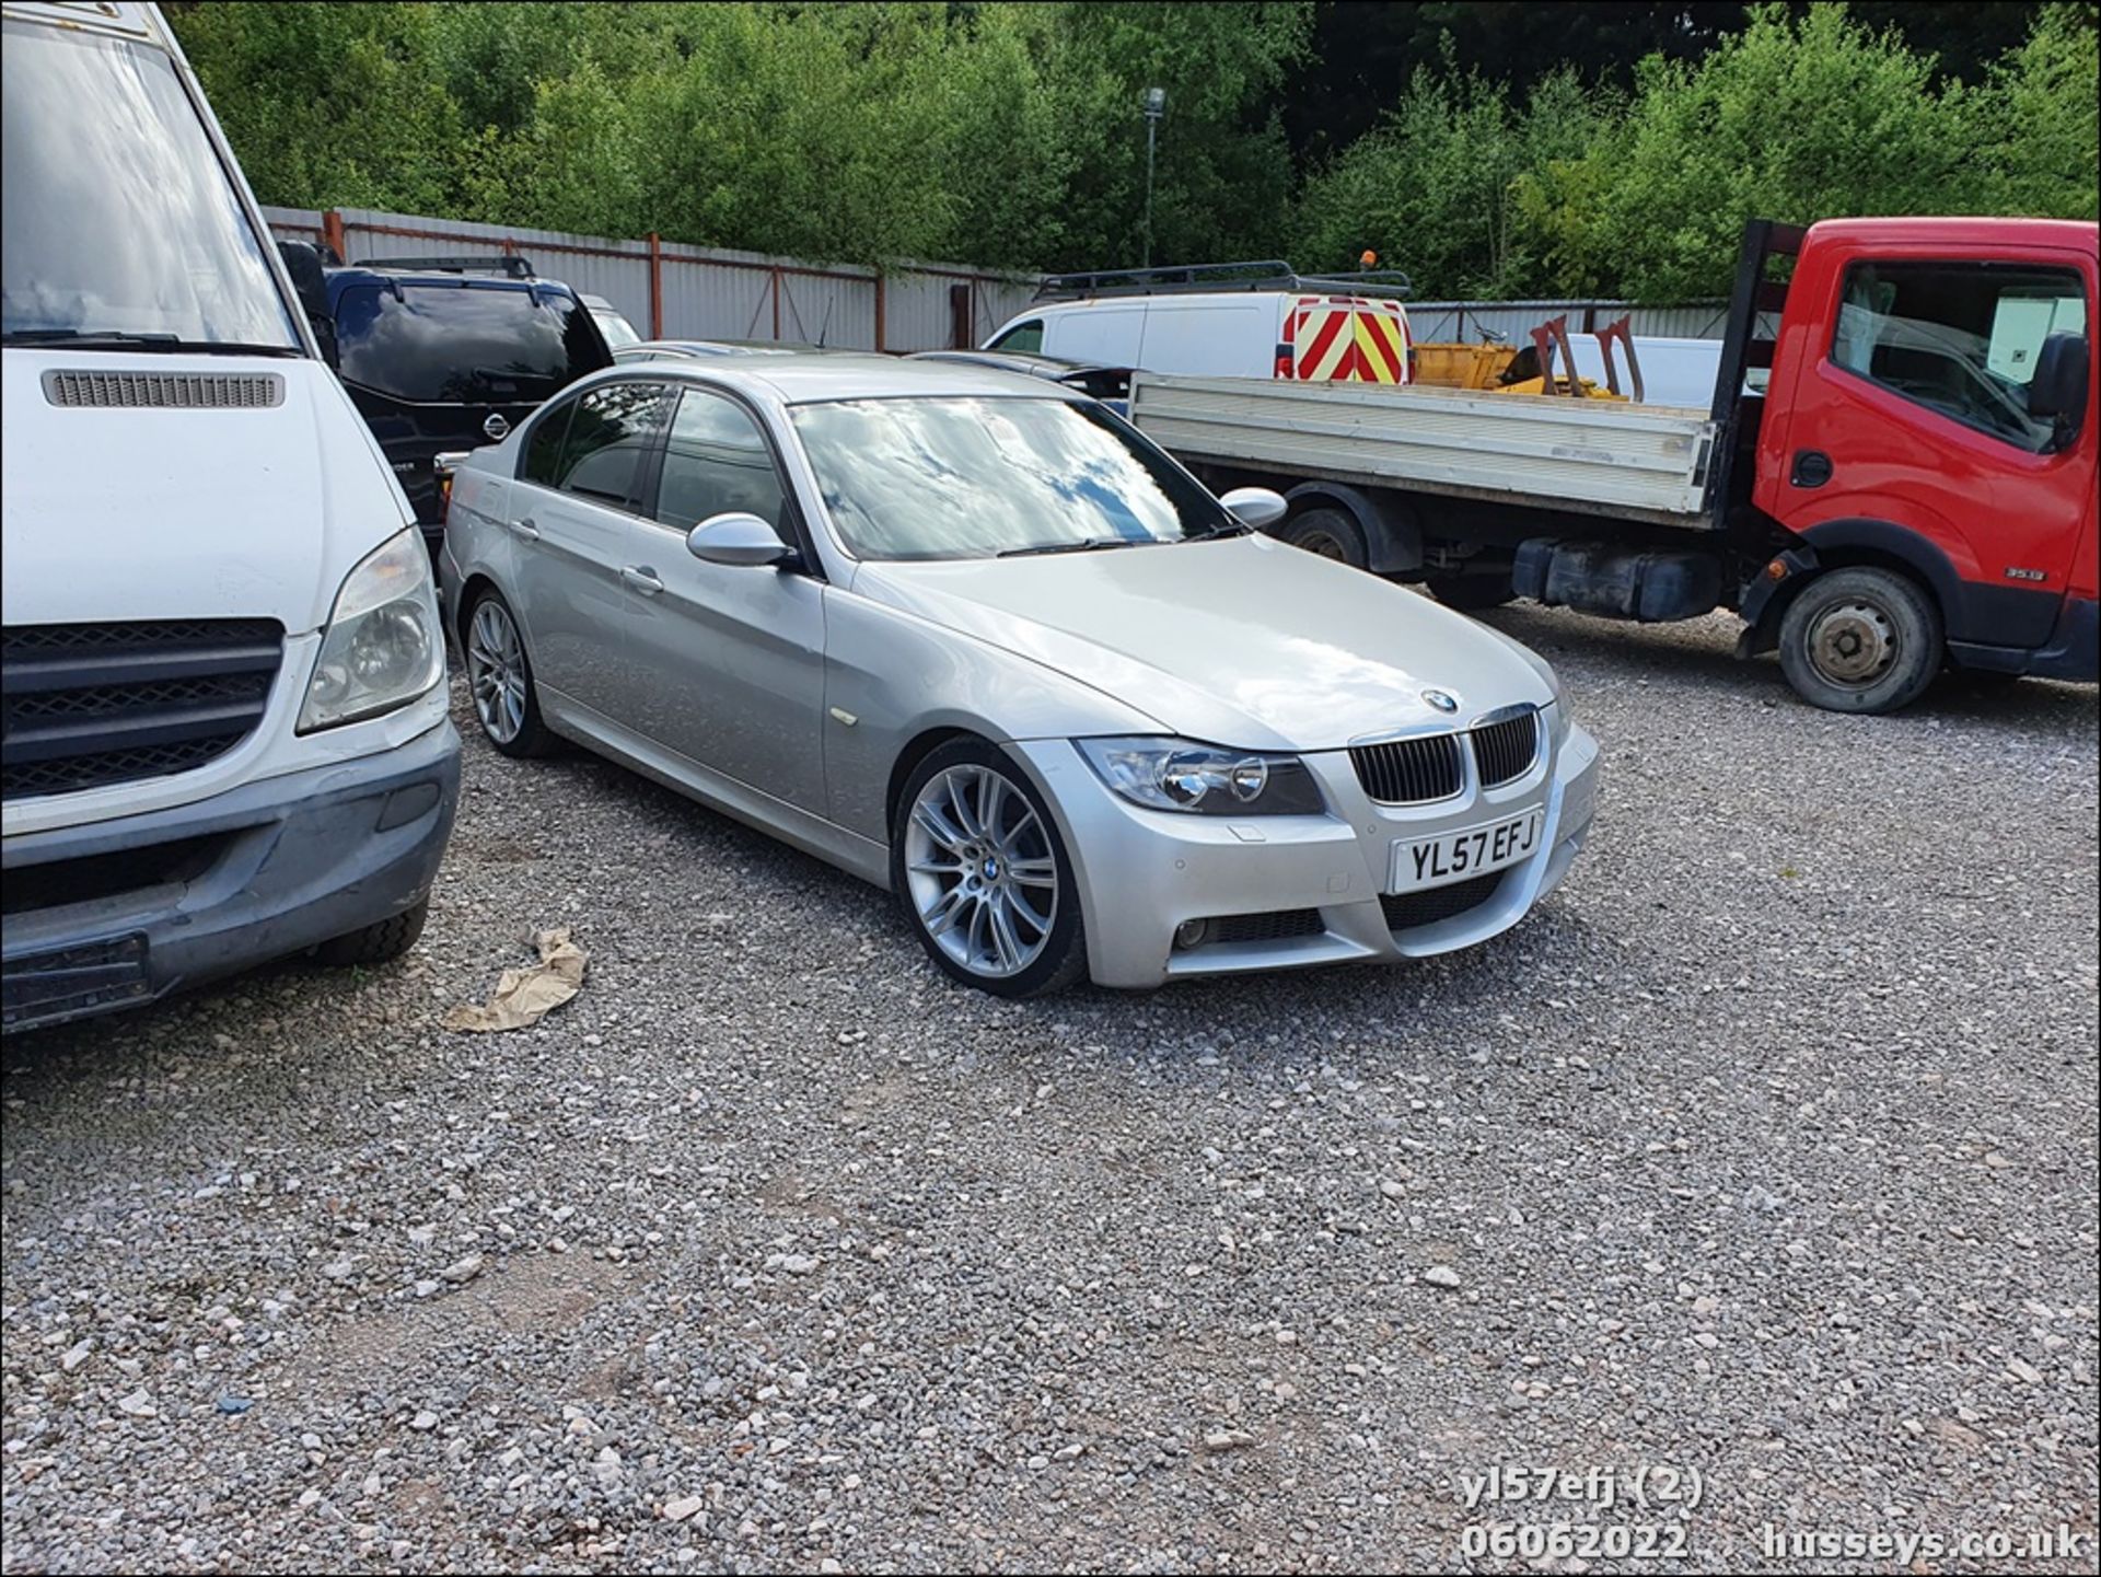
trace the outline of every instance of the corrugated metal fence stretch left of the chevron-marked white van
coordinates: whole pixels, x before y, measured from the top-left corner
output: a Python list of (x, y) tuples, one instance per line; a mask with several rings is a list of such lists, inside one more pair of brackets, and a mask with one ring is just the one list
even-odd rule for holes
[(651, 340), (796, 340), (857, 351), (983, 342), (1029, 304), (1034, 275), (948, 262), (891, 271), (811, 265), (763, 252), (380, 214), (265, 208), (286, 239), (326, 241), (347, 262), (448, 252), (517, 252), (548, 279), (605, 296)]

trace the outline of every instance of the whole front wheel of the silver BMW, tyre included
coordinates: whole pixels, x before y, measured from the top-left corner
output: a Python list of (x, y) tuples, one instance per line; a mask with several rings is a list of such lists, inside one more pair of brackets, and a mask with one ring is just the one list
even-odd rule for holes
[(1072, 861), (1050, 811), (981, 739), (952, 739), (912, 771), (891, 886), (927, 955), (964, 985), (1029, 997), (1086, 970)]

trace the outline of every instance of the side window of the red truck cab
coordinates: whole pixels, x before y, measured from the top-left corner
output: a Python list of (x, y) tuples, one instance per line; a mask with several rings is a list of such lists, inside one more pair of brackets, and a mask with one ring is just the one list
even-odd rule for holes
[(1832, 363), (2030, 454), (2053, 424), (2027, 414), (2051, 334), (2086, 332), (2072, 269), (2002, 262), (1855, 262), (1838, 298)]

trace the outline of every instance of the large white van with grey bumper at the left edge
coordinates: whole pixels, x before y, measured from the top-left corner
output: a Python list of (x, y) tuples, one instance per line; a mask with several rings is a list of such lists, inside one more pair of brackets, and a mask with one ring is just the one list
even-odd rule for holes
[(160, 13), (0, 27), (4, 1027), (401, 953), (460, 773), (408, 500)]

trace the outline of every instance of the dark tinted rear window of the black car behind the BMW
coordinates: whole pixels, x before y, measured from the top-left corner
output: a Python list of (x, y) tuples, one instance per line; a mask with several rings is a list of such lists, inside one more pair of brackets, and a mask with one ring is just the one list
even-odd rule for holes
[(532, 286), (353, 286), (336, 346), (345, 382), (418, 405), (538, 405), (609, 365), (590, 313)]

